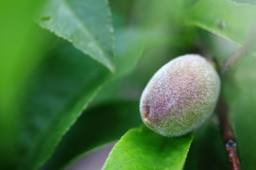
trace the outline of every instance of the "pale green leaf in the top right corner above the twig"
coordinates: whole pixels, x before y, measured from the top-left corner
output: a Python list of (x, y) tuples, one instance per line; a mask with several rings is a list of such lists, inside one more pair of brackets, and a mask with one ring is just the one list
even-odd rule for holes
[(190, 24), (242, 45), (255, 25), (256, 6), (230, 0), (201, 0), (189, 15)]

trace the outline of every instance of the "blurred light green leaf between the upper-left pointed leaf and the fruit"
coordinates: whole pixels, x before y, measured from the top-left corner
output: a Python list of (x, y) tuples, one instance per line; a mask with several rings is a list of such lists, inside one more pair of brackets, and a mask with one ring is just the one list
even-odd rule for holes
[(159, 30), (129, 27), (116, 29), (116, 74), (120, 78), (132, 73), (143, 55), (154, 46), (166, 44), (169, 38)]

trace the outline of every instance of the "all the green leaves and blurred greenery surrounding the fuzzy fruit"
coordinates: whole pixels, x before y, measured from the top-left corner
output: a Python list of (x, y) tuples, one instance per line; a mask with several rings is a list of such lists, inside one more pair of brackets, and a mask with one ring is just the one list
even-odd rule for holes
[[(221, 64), (232, 43), (253, 38), (255, 16), (252, 0), (1, 1), (0, 169), (67, 167), (126, 131), (104, 169), (182, 169), (193, 134), (131, 129), (141, 123), (141, 92), (173, 57), (201, 53)], [(246, 57), (221, 82), (243, 169), (255, 169), (255, 64)], [(227, 162), (213, 117), (195, 132), (184, 169)]]

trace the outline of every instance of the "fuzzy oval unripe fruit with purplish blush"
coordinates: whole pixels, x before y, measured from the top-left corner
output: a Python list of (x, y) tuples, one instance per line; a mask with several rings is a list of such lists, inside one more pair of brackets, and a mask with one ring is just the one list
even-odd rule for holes
[(143, 122), (163, 136), (181, 136), (211, 116), (220, 78), (204, 57), (188, 54), (161, 67), (140, 99)]

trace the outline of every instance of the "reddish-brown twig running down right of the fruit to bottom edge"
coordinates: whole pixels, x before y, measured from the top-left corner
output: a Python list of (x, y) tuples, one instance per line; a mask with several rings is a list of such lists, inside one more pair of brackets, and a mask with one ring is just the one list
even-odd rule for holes
[(236, 150), (236, 139), (234, 137), (232, 128), (228, 122), (228, 108), (227, 105), (224, 103), (222, 96), (220, 96), (220, 99), (218, 101), (217, 111), (220, 120), (221, 132), (225, 143), (225, 148), (228, 154), (228, 162), (230, 164), (230, 169), (240, 170), (241, 166)]

